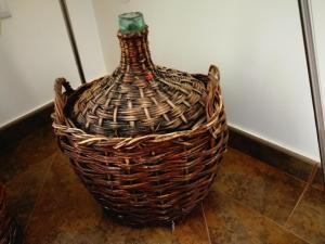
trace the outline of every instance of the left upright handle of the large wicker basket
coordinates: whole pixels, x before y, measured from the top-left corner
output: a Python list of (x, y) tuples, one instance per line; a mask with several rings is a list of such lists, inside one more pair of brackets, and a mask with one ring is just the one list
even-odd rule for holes
[[(65, 89), (64, 93), (62, 92), (62, 88)], [(54, 121), (57, 124), (63, 124), (65, 120), (64, 106), (67, 97), (74, 92), (74, 89), (65, 78), (57, 78), (54, 84)]]

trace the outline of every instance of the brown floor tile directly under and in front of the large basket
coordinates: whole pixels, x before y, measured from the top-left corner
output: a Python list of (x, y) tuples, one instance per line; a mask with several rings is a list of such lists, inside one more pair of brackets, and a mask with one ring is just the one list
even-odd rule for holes
[(134, 229), (103, 217), (67, 158), (57, 153), (28, 224), (26, 243), (207, 244), (208, 236), (200, 208), (176, 226), (173, 233), (162, 227)]

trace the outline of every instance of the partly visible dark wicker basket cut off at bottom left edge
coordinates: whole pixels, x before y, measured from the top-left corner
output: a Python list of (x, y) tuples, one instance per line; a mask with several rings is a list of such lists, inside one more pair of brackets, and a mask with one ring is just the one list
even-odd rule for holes
[(17, 243), (17, 226), (8, 214), (4, 188), (0, 184), (0, 244)]

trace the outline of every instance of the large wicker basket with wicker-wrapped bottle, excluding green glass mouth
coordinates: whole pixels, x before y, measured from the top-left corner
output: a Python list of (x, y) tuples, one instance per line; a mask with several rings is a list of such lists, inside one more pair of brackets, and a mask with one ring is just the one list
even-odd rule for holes
[(154, 65), (146, 26), (118, 37), (121, 63), (112, 76), (76, 91), (56, 80), (53, 128), (109, 215), (133, 224), (176, 221), (207, 195), (225, 152), (219, 70)]

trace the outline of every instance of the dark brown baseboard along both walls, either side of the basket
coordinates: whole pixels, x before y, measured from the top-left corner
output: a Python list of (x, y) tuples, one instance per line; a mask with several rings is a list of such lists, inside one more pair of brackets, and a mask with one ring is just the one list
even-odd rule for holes
[[(53, 102), (50, 102), (32, 113), (0, 128), (1, 151), (15, 144), (22, 138), (26, 137), (31, 131), (37, 130), (39, 127), (50, 124), (52, 113)], [(304, 156), (231, 126), (229, 145), (303, 181), (308, 180), (312, 167), (316, 164)], [(321, 167), (315, 176), (314, 182), (320, 184), (323, 182)]]

